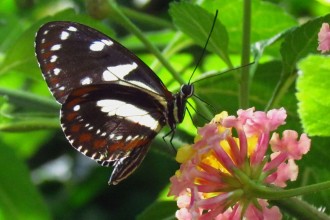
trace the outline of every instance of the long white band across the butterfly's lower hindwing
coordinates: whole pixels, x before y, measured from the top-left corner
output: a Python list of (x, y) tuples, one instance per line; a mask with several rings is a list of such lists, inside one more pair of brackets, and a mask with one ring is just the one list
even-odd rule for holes
[(149, 113), (134, 105), (111, 99), (100, 100), (96, 103), (101, 108), (102, 112), (109, 116), (119, 116), (125, 119), (138, 123), (140, 125), (149, 127), (152, 130), (158, 131), (160, 129), (159, 123)]

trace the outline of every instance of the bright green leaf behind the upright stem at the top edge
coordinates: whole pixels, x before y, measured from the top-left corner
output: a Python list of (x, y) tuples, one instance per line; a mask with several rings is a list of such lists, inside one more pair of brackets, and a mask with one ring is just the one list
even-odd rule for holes
[[(203, 7), (211, 13), (219, 10), (219, 19), (229, 34), (229, 50), (240, 52), (242, 48), (243, 0), (205, 1)], [(297, 25), (297, 21), (282, 7), (275, 4), (253, 0), (251, 17), (251, 42), (270, 39), (280, 32)]]

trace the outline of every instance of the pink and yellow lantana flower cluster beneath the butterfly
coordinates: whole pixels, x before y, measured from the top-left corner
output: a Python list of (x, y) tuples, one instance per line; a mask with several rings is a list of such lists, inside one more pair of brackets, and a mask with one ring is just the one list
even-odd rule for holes
[(253, 186), (283, 188), (296, 180), (295, 161), (309, 151), (310, 139), (293, 130), (273, 132), (285, 123), (283, 108), (250, 108), (237, 115), (217, 115), (198, 130), (192, 146), (179, 149), (181, 166), (169, 192), (177, 198), (178, 219), (282, 218)]

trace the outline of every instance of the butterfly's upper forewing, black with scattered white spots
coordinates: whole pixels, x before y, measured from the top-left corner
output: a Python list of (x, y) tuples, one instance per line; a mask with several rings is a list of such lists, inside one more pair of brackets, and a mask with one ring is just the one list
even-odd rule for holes
[(95, 29), (74, 22), (50, 22), (36, 35), (36, 56), (59, 103), (83, 85), (129, 82), (170, 97), (158, 76), (138, 57)]

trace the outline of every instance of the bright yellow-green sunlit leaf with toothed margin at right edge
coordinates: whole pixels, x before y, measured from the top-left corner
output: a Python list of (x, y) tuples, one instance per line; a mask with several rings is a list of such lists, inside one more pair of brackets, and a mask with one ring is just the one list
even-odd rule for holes
[(326, 117), (330, 110), (330, 57), (310, 55), (298, 67), (298, 113), (302, 125), (309, 135), (330, 136), (330, 118)]

